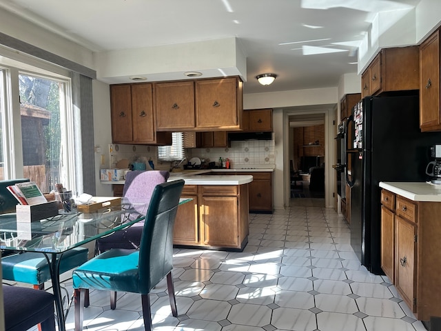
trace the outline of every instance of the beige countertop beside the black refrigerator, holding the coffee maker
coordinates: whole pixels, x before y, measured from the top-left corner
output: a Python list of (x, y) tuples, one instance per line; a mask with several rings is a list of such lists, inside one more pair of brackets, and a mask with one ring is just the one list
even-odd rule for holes
[(412, 201), (441, 202), (441, 185), (427, 182), (380, 181), (380, 188)]

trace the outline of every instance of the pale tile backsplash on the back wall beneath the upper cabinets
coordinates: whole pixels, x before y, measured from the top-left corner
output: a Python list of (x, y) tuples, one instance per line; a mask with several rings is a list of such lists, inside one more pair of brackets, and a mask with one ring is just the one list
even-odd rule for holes
[[(112, 151), (111, 151), (112, 150)], [(170, 162), (158, 161), (158, 148), (156, 146), (110, 144), (108, 147), (109, 161), (101, 168), (116, 168), (116, 163), (121, 159), (132, 161), (153, 161), (155, 169), (169, 170)], [(232, 141), (229, 148), (187, 148), (187, 160), (199, 157), (209, 161), (218, 162), (219, 157), (229, 159), (232, 168), (247, 168), (252, 166), (274, 165), (274, 140)]]

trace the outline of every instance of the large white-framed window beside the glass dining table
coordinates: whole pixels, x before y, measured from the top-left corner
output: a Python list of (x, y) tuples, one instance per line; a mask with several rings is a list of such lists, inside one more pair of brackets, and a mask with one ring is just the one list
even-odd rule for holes
[(23, 68), (0, 67), (0, 179), (75, 190), (70, 79)]

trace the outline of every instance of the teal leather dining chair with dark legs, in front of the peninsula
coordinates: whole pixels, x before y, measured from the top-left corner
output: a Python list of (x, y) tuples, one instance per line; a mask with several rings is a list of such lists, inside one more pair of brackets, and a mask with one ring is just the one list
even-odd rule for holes
[(144, 328), (152, 330), (149, 293), (164, 277), (172, 314), (178, 316), (172, 279), (173, 228), (183, 186), (182, 179), (156, 185), (139, 250), (111, 249), (72, 272), (76, 331), (83, 330), (85, 290), (90, 289), (141, 294)]

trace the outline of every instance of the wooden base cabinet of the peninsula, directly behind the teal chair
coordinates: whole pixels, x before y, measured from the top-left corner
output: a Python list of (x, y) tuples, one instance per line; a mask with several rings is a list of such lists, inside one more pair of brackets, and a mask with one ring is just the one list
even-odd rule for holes
[[(186, 188), (191, 186), (191, 188)], [(248, 184), (185, 185), (174, 245), (242, 251), (248, 241)]]

